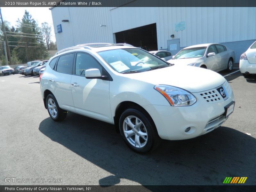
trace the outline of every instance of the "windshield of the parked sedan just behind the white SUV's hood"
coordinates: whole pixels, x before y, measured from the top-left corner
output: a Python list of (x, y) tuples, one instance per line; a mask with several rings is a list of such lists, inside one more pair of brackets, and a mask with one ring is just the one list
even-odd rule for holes
[(182, 49), (172, 59), (188, 59), (203, 57), (206, 47), (193, 47), (188, 49)]

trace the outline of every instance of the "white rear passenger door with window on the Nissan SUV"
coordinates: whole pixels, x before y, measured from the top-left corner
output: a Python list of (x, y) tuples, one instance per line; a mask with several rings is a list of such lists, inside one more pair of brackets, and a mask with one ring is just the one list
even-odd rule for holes
[[(61, 55), (49, 77), (49, 84), (53, 86), (53, 94), (60, 108), (74, 111), (74, 103), (71, 93), (71, 77), (73, 73), (75, 53)], [(49, 64), (52, 66), (52, 62)]]

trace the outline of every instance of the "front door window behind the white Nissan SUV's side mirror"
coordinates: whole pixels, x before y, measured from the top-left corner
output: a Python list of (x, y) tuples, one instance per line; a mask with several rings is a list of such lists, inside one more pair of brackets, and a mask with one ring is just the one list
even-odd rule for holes
[(76, 54), (76, 75), (84, 76), (85, 70), (92, 68), (99, 69), (102, 74), (102, 66), (96, 59), (94, 59), (94, 57), (87, 53)]

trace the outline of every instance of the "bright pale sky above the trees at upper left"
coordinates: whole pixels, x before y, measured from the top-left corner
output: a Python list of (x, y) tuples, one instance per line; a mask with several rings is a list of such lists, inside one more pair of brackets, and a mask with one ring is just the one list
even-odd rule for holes
[(1, 7), (3, 19), (9, 21), (11, 26), (16, 28), (18, 18), (21, 20), (25, 10), (32, 15), (32, 18), (36, 20), (39, 27), (41, 23), (47, 22), (52, 26), (52, 41), (55, 42), (55, 34), (52, 22), (52, 13), (49, 10), (50, 7)]

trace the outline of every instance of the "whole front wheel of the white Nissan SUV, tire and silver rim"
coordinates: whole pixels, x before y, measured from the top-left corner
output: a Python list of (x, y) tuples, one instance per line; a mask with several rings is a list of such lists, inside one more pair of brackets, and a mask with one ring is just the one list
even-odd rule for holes
[(128, 147), (139, 153), (156, 149), (161, 140), (152, 119), (135, 108), (123, 112), (119, 119), (119, 129)]

